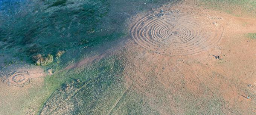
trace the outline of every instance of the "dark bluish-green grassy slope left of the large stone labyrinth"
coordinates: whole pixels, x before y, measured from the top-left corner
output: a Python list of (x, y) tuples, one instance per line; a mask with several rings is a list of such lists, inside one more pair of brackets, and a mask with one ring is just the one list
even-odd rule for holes
[[(111, 6), (112, 2), (116, 4)], [(129, 9), (120, 11), (134, 13), (135, 10), (130, 9), (135, 8), (141, 12), (149, 9), (148, 4), (154, 4), (155, 7), (165, 2), (134, 0), (128, 5)], [(122, 5), (120, 3), (116, 0), (3, 1), (0, 12), (0, 49), (3, 52), (14, 52), (9, 56), (16, 57), (16, 60), (34, 63), (31, 58), (37, 54), (55, 56), (58, 51), (87, 50), (106, 45), (128, 35), (124, 30), (129, 15), (116, 13), (120, 7), (115, 5)], [(117, 18), (118, 15), (122, 18)]]

